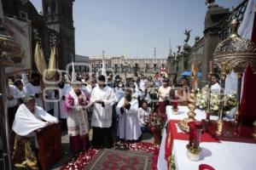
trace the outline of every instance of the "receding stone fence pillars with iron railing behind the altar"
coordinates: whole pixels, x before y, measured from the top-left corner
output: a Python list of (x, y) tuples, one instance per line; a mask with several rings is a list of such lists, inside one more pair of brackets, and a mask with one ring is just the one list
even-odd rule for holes
[[(244, 0), (236, 8), (219, 7), (212, 1), (207, 4), (205, 17), (204, 37), (195, 37), (195, 44), (189, 48), (184, 47), (180, 53), (169, 54), (167, 71), (169, 75), (181, 77), (183, 71), (191, 69), (193, 60), (197, 61), (199, 71), (202, 72), (202, 80), (207, 80), (209, 61), (213, 59), (213, 53), (218, 43), (230, 35), (230, 21), (236, 18), (239, 22), (247, 8), (248, 0)], [(184, 50), (186, 51), (184, 53)], [(189, 52), (189, 54), (188, 54)], [(183, 55), (185, 54), (185, 56)]]

